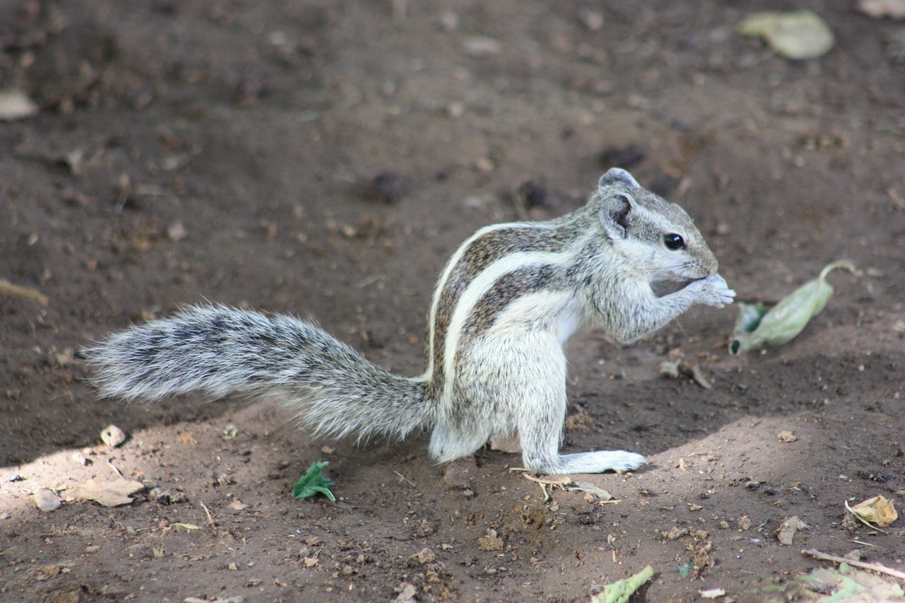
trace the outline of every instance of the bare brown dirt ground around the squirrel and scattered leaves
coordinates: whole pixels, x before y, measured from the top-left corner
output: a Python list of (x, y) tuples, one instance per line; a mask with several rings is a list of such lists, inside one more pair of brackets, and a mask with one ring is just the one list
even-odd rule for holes
[[(586, 601), (651, 565), (636, 600), (738, 601), (829, 567), (803, 549), (902, 569), (901, 521), (843, 508), (905, 492), (905, 24), (853, 4), (778, 3), (836, 36), (791, 62), (735, 34), (759, 1), (3, 3), (0, 88), (40, 110), (0, 122), (0, 278), (48, 302), (0, 297), (0, 598)], [(449, 469), (425, 435), (312, 441), (268, 404), (87, 381), (82, 346), (204, 300), (314, 318), (416, 375), (456, 246), (525, 199), (580, 206), (614, 165), (695, 217), (739, 299), (861, 269), (764, 353), (729, 357), (732, 307), (570, 341), (566, 450), (651, 461), (575, 476), (618, 503), (545, 500), (519, 456)], [(315, 461), (337, 503), (291, 497)], [(78, 495), (117, 474), (133, 503)]]

